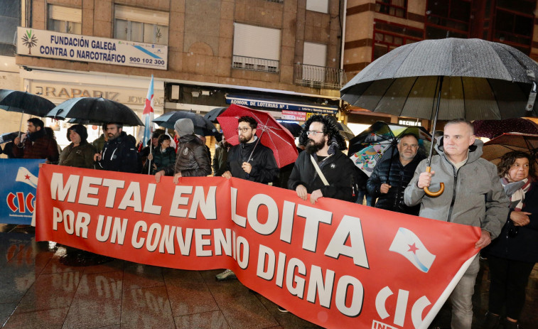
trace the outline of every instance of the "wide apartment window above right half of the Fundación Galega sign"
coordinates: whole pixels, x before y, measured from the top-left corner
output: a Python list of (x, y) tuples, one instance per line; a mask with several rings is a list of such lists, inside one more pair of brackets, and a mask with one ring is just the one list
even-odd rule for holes
[(128, 6), (114, 7), (114, 38), (168, 44), (168, 13)]

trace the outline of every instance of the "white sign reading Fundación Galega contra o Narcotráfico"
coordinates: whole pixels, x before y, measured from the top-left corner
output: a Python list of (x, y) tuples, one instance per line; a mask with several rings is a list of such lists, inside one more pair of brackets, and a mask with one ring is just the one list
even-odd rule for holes
[(168, 46), (17, 28), (17, 55), (166, 70)]

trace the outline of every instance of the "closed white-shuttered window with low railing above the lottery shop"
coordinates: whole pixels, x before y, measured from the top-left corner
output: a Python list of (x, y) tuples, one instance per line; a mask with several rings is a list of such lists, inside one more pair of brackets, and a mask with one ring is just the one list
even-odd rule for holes
[(276, 28), (234, 23), (232, 68), (279, 72), (280, 34)]

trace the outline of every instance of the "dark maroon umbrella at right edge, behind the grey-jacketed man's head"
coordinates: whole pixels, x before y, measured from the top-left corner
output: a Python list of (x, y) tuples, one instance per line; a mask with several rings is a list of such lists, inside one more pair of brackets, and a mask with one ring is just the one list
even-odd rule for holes
[(475, 135), (493, 139), (504, 133), (519, 132), (523, 134), (538, 134), (538, 124), (524, 118), (505, 120), (475, 120)]

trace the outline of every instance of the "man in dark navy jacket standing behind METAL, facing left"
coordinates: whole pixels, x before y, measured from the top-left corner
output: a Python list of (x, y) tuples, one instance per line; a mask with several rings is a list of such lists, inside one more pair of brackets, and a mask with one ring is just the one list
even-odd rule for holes
[(135, 143), (123, 131), (123, 125), (108, 123), (104, 132), (108, 141), (104, 142), (101, 153), (95, 153), (93, 156), (94, 161), (97, 161), (97, 168), (105, 171), (138, 173), (138, 152)]

